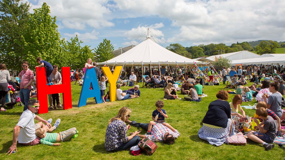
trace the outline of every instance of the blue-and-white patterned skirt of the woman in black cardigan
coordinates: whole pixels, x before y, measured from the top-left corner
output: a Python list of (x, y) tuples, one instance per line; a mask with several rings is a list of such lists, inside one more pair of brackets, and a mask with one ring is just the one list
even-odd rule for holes
[[(198, 132), (198, 136), (208, 141), (211, 145), (222, 145), (226, 142), (226, 138), (229, 137), (229, 132), (231, 128), (231, 118), (228, 118), (227, 128), (211, 128), (208, 126), (204, 126), (200, 128)], [(233, 129), (231, 135), (235, 135), (235, 125), (233, 124)]]

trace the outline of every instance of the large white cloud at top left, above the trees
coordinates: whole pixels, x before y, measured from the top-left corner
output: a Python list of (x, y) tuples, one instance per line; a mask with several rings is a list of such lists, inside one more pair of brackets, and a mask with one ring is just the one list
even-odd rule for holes
[[(38, 1), (32, 5), (32, 9), (40, 8), (46, 2), (50, 6), (50, 14), (56, 16), (58, 21), (66, 28), (84, 29), (86, 25), (93, 28), (104, 28), (115, 26), (110, 22), (111, 11), (107, 8), (107, 1)], [(33, 13), (33, 10), (30, 12)]]

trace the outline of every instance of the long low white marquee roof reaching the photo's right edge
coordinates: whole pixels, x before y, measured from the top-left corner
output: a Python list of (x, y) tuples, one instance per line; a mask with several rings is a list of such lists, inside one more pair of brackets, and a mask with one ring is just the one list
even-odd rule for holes
[(261, 58), (251, 58), (251, 59), (243, 59), (243, 60), (233, 60), (232, 65), (243, 64), (243, 65), (251, 65), (251, 64), (284, 64), (285, 56), (273, 56), (273, 57), (261, 57)]

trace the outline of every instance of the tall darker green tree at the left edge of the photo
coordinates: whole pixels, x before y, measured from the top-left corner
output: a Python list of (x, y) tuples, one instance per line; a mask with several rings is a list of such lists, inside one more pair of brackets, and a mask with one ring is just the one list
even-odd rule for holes
[(0, 1), (0, 60), (9, 69), (20, 71), (25, 60), (23, 48), (15, 41), (27, 31), (30, 3), (20, 0)]

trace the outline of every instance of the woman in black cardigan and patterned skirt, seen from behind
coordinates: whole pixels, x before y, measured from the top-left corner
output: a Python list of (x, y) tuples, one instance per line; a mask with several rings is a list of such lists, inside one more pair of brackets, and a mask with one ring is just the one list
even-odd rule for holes
[[(216, 94), (217, 100), (209, 104), (208, 111), (203, 119), (203, 127), (200, 128), (198, 136), (208, 141), (211, 145), (222, 145), (229, 137), (231, 130), (231, 107), (229, 94), (227, 91), (220, 90)], [(232, 126), (231, 135), (234, 135), (235, 127)]]

